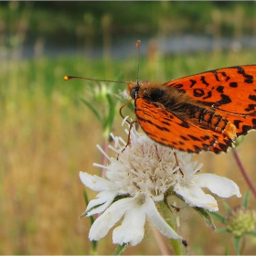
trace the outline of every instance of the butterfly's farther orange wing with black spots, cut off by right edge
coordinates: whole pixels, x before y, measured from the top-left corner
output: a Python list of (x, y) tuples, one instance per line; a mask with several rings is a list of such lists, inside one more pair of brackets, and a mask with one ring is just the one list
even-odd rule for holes
[(215, 109), (236, 126), (238, 136), (256, 129), (256, 65), (210, 70), (165, 86)]

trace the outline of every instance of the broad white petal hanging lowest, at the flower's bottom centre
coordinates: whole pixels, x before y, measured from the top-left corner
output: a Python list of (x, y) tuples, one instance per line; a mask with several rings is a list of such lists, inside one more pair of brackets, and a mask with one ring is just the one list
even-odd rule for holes
[(133, 205), (124, 215), (122, 225), (112, 232), (113, 243), (129, 242), (132, 246), (140, 243), (144, 238), (144, 222), (144, 208), (140, 205), (140, 202), (133, 200)]

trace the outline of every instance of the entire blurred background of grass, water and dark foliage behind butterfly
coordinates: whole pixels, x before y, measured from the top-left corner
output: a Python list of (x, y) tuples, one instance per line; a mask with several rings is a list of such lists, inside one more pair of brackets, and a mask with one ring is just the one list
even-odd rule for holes
[[(256, 63), (255, 2), (0, 2), (0, 253), (89, 254), (90, 219), (79, 171), (98, 174), (101, 125), (80, 98), (85, 80), (135, 80), (134, 43), (142, 40), (140, 79), (172, 80), (207, 69)], [(93, 83), (91, 83), (93, 84)], [(120, 85), (120, 90), (124, 90)], [(113, 133), (123, 135), (117, 114)], [(256, 133), (239, 147), (255, 180)], [(247, 186), (232, 154), (202, 153), (203, 171)], [(95, 193), (89, 192), (90, 198)], [(234, 197), (231, 206), (240, 204)], [(255, 200), (251, 196), (251, 206)], [(220, 213), (225, 213), (219, 199)], [(178, 230), (192, 254), (234, 254), (232, 237), (193, 210)], [(223, 228), (216, 221), (218, 228)], [(165, 239), (171, 250), (169, 240)], [(246, 240), (254, 254), (256, 240)], [(111, 254), (112, 233), (99, 243)], [(159, 254), (153, 231), (126, 254)]]

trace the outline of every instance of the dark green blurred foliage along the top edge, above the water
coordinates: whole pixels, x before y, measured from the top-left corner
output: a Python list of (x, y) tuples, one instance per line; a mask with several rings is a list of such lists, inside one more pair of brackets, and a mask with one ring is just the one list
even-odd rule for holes
[[(1, 21), (8, 27), (14, 29), (21, 14), (26, 14), (29, 41), (44, 37), (55, 44), (61, 38), (62, 46), (74, 45), (77, 36), (80, 39), (91, 37), (92, 44), (99, 44), (104, 33), (104, 16), (111, 17), (109, 32), (118, 37), (129, 37), (131, 31), (137, 37), (154, 36), (159, 31), (168, 35), (213, 36), (220, 32), (230, 37), (238, 33), (240, 26), (243, 26), (242, 33), (253, 34), (255, 31), (255, 3), (248, 1), (0, 2)], [(90, 22), (86, 16), (91, 16)]]

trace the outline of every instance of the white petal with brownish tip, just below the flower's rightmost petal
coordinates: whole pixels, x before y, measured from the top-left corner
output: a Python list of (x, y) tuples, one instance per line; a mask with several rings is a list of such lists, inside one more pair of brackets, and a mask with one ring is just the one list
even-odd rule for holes
[(174, 190), (184, 198), (190, 207), (206, 208), (210, 211), (217, 211), (219, 209), (215, 198), (205, 194), (200, 187), (181, 187), (180, 184), (176, 184)]

